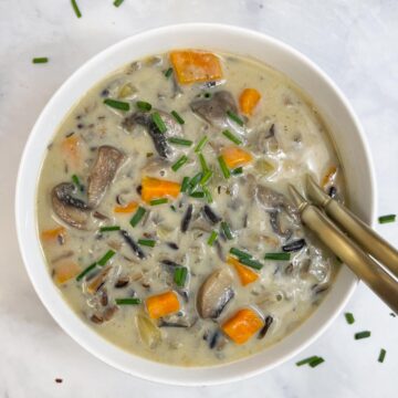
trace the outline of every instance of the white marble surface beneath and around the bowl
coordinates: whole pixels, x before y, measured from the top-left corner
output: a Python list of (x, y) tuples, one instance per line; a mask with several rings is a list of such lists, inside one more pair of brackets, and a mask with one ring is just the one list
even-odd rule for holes
[[(256, 29), (294, 45), (343, 88), (373, 151), (379, 213), (398, 211), (398, 1), (396, 0), (0, 0), (0, 397), (397, 397), (398, 317), (360, 285), (341, 316), (295, 358), (239, 385), (165, 387), (127, 376), (74, 343), (39, 302), (15, 238), (13, 192), (19, 158), (35, 118), (59, 85), (100, 50), (137, 31), (187, 21)], [(172, 43), (170, 43), (172, 44)], [(51, 59), (32, 65), (33, 56)], [(378, 230), (398, 245), (398, 224)], [(354, 332), (370, 329), (355, 342)], [(377, 363), (380, 347), (385, 364)], [(55, 384), (54, 378), (63, 378)]]

